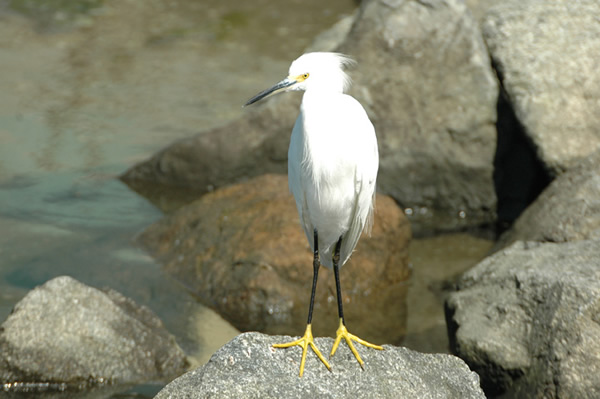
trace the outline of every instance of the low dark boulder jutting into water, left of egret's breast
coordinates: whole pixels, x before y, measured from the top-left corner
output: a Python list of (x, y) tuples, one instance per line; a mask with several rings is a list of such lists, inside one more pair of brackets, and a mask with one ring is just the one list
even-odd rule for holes
[(196, 199), (249, 177), (285, 173), (300, 100), (294, 94), (273, 97), (229, 124), (173, 143), (121, 179), (169, 211), (163, 204), (172, 197)]

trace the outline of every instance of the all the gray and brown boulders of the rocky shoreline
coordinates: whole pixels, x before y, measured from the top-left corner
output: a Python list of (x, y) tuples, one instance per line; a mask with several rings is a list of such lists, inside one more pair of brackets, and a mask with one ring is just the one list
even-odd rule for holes
[[(342, 346), (333, 372), (309, 356), (299, 379), (299, 353), (270, 348), (299, 331), (308, 292), (298, 277), (310, 253), (280, 176), (292, 96), (122, 176), (142, 193), (196, 187), (200, 199), (140, 241), (232, 324), (273, 335), (241, 334), (188, 370), (148, 309), (60, 277), (0, 327), (4, 390), (172, 381), (157, 398), (600, 397), (600, 4), (494, 3), (365, 0), (312, 46), (357, 59), (351, 94), (380, 140), (379, 230), (342, 276), (349, 319), (377, 327), (365, 338), (393, 330), (385, 339), (402, 342), (411, 229), (506, 230), (450, 290), (454, 355), (386, 345), (362, 371)], [(317, 313), (335, 321), (322, 286)]]

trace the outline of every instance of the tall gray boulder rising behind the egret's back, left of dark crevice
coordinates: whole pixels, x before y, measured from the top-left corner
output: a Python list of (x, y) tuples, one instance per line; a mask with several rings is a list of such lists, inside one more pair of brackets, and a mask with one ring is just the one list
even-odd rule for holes
[(494, 219), (498, 85), (461, 0), (366, 1), (340, 47), (369, 111), (379, 189), (412, 208), (415, 230)]

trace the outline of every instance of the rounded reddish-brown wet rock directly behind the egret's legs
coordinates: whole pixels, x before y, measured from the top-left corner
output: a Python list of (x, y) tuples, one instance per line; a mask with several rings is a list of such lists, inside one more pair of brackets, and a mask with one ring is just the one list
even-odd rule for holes
[[(377, 197), (372, 236), (341, 269), (350, 329), (396, 343), (406, 324), (410, 227), (394, 201)], [(150, 226), (141, 242), (165, 269), (242, 331), (299, 334), (306, 327), (312, 252), (286, 176), (265, 175), (215, 190)], [(333, 335), (333, 272), (319, 272), (313, 331)]]

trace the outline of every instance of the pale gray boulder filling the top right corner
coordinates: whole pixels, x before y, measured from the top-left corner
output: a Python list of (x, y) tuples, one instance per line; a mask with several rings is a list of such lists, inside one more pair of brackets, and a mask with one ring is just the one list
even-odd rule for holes
[(558, 175), (600, 148), (600, 3), (498, 3), (485, 41), (515, 114)]

